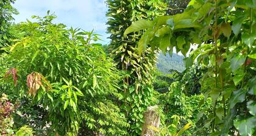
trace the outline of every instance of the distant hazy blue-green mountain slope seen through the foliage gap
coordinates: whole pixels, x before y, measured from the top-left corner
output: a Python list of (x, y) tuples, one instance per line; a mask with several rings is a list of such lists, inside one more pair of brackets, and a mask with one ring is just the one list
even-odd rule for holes
[(157, 59), (157, 69), (163, 73), (169, 73), (170, 69), (182, 72), (185, 70), (183, 58), (184, 56), (177, 55), (176, 53), (172, 53), (172, 56), (170, 56), (168, 53), (166, 53), (166, 56), (163, 55), (163, 53), (159, 53)]

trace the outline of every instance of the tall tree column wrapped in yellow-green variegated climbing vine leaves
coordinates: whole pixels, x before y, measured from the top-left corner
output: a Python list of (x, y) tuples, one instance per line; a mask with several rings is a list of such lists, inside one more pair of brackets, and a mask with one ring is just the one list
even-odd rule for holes
[(108, 0), (107, 4), (107, 32), (112, 39), (108, 50), (118, 69), (126, 73), (120, 83), (123, 94), (120, 104), (131, 124), (129, 134), (140, 135), (143, 112), (151, 104), (155, 53), (148, 49), (139, 56), (137, 44), (141, 32), (124, 36), (124, 31), (138, 19), (164, 15), (166, 4), (161, 0)]

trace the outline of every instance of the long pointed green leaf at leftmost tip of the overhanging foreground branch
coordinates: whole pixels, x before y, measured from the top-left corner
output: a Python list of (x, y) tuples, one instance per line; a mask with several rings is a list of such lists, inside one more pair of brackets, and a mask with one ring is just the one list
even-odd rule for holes
[(137, 32), (138, 30), (148, 29), (149, 27), (152, 27), (152, 25), (153, 24), (151, 21), (141, 19), (139, 21), (133, 22), (133, 24), (126, 29), (124, 35), (127, 35), (132, 32)]

